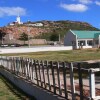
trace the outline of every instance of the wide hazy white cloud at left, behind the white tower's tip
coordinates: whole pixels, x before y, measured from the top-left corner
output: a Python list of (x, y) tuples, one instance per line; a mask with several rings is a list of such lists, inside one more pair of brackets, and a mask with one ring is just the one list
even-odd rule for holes
[(0, 7), (0, 17), (25, 15), (26, 9), (21, 7)]

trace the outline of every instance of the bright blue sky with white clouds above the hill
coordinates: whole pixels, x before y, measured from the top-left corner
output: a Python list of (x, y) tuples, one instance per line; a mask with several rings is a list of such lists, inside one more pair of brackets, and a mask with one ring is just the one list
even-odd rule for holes
[(100, 0), (0, 0), (0, 26), (15, 21), (73, 20), (100, 28)]

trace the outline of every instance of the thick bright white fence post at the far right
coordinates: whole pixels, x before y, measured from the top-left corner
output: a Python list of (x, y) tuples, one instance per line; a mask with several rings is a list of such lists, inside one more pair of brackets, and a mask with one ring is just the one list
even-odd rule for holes
[(95, 73), (92, 70), (89, 72), (89, 77), (90, 97), (91, 99), (95, 99)]

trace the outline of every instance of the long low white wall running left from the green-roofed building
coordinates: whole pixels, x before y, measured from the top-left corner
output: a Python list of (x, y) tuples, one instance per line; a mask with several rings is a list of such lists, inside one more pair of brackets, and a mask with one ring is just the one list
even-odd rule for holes
[(0, 54), (8, 53), (30, 53), (42, 51), (61, 51), (72, 50), (71, 46), (34, 46), (34, 47), (14, 47), (14, 48), (0, 48)]

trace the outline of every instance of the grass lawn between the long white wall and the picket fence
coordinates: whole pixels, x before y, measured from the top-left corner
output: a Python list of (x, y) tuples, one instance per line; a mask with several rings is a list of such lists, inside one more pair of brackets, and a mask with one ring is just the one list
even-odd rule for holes
[(6, 54), (6, 56), (21, 56), (38, 60), (54, 61), (86, 61), (100, 59), (100, 49), (82, 49), (70, 51), (35, 52), (26, 54)]

